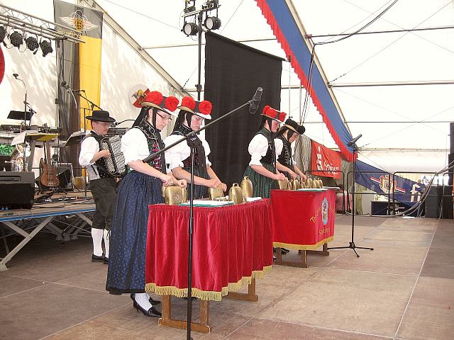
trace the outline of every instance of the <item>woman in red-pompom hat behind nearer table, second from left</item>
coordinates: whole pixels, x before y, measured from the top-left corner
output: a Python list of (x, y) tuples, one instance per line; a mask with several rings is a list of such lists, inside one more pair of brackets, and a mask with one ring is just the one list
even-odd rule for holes
[[(211, 119), (212, 105), (209, 101), (194, 101), (190, 96), (182, 99), (179, 114), (172, 134), (165, 139), (165, 145), (180, 140), (182, 136), (192, 131), (199, 130), (205, 119)], [(210, 146), (204, 137), (196, 136), (200, 142), (194, 154), (194, 198), (208, 197), (208, 188), (222, 187), (227, 190), (225, 183), (222, 183), (213, 169), (208, 159)], [(169, 164), (172, 174), (177, 179), (185, 179), (188, 183), (191, 180), (191, 149), (186, 142), (182, 142), (165, 152), (165, 159)], [(188, 186), (188, 197), (191, 197), (191, 189)]]

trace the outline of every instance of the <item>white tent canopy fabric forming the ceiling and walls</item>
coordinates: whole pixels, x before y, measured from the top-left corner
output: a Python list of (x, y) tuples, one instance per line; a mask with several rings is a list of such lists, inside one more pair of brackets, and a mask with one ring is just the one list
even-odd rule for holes
[[(196, 1), (197, 8), (203, 2)], [(340, 38), (316, 37), (318, 35), (355, 32), (392, 2), (287, 0), (297, 9), (297, 20), (301, 21), (306, 33), (314, 36), (313, 42)], [(216, 33), (286, 57), (255, 0), (220, 0), (219, 3), (218, 15), (222, 26)], [(53, 20), (51, 0), (2, 0), (0, 4)], [(128, 46), (121, 39), (121, 32), (105, 25), (101, 106), (113, 112), (117, 120), (133, 118), (136, 114), (127, 98), (128, 90), (134, 84), (172, 91), (172, 86), (139, 57), (143, 47), (184, 91), (196, 96), (198, 47), (196, 40), (181, 32), (183, 0), (98, 0), (96, 3), (90, 0), (79, 1), (79, 4), (104, 9), (138, 44)], [(454, 112), (450, 96), (454, 90), (454, 84), (450, 84), (454, 82), (453, 2), (399, 0), (362, 33), (442, 27), (445, 28), (353, 35), (340, 42), (316, 46), (316, 57), (328, 84), (333, 86), (351, 135), (362, 134), (357, 144), (360, 147), (359, 159), (363, 162), (388, 171), (422, 171), (422, 168), (424, 171), (435, 171), (445, 166), (449, 152), (448, 122), (453, 120)], [(13, 72), (21, 73), (18, 69), (41, 74), (44, 81), (36, 79), (35, 91), (49, 91), (50, 94), (35, 96), (35, 105), (45, 110), (46, 117), (51, 117), (51, 113), (55, 112), (52, 105), (52, 94), (55, 96), (56, 91), (52, 88), (56, 86), (57, 77), (55, 55), (42, 58), (31, 53), (19, 53), (16, 49), (3, 50), (6, 77), (0, 85), (0, 99), (6, 105), (1, 108), (1, 122), (6, 121), (10, 109), (21, 108), (23, 89), (11, 80)], [(203, 69), (201, 74), (203, 85)], [(434, 81), (443, 84), (410, 85), (411, 82)], [(398, 85), (384, 86), (389, 82)], [(301, 117), (305, 96), (304, 89), (301, 92), (298, 89), (299, 84), (289, 63), (283, 62), (281, 109), (296, 120)], [(52, 90), (43, 90), (43, 86)], [(293, 89), (288, 90), (289, 86)], [(248, 99), (245, 98), (245, 101)], [(336, 148), (321, 122), (321, 115), (312, 104), (302, 116), (306, 135), (327, 147)], [(35, 123), (44, 123), (40, 118), (36, 119)]]

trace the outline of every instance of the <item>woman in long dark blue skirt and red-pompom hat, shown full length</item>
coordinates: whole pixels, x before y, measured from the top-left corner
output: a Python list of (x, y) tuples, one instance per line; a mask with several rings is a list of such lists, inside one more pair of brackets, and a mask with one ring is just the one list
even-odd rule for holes
[(131, 293), (134, 307), (148, 317), (161, 316), (155, 309), (160, 302), (145, 293), (148, 205), (164, 203), (162, 185), (175, 181), (186, 186), (186, 181), (177, 181), (167, 174), (164, 154), (148, 163), (142, 161), (165, 147), (160, 130), (171, 119), (178, 102), (173, 96), (150, 92), (133, 128), (121, 139), (121, 151), (131, 169), (118, 188), (106, 290), (111, 294)]

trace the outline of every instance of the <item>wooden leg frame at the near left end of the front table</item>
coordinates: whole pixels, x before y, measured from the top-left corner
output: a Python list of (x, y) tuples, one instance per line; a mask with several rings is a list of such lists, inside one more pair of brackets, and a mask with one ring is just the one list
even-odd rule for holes
[[(191, 322), (191, 329), (201, 333), (209, 333), (209, 301), (199, 300), (199, 322)], [(170, 295), (162, 295), (162, 317), (157, 321), (160, 326), (187, 329), (187, 320), (172, 319), (172, 300)]]

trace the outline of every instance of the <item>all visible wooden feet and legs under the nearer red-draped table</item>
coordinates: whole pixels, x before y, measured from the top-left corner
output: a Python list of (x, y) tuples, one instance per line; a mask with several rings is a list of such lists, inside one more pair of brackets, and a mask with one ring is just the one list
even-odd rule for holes
[[(255, 294), (255, 278), (250, 280), (248, 286), (248, 293), (235, 293), (231, 292), (226, 295), (231, 299), (245, 300), (245, 301), (258, 301), (258, 295)], [(209, 301), (199, 299), (199, 322), (191, 322), (191, 329), (201, 333), (209, 333)], [(161, 326), (174, 327), (179, 329), (187, 329), (187, 321), (172, 319), (172, 298), (170, 295), (162, 295), (162, 317), (158, 320)]]

